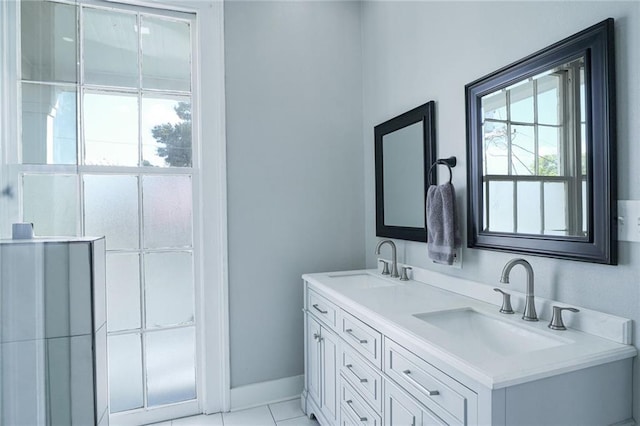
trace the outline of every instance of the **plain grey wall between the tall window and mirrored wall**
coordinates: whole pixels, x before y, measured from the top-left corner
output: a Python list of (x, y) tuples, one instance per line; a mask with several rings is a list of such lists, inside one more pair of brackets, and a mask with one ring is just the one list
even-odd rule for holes
[(362, 268), (360, 4), (225, 2), (231, 386), (303, 373), (305, 272)]

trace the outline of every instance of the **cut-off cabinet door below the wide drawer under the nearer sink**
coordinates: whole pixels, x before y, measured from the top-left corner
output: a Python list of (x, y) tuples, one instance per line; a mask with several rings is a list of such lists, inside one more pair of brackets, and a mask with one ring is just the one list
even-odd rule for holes
[(438, 417), (424, 409), (390, 381), (385, 384), (384, 418), (386, 426), (443, 426)]

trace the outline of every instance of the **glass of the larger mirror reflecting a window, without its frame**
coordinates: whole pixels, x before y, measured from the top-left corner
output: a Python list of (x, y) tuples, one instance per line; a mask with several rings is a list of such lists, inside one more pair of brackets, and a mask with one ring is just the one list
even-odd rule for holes
[(482, 97), (483, 227), (587, 236), (584, 57)]

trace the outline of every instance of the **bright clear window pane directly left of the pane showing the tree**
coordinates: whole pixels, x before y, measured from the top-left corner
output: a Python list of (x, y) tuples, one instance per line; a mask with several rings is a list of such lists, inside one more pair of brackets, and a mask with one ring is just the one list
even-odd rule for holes
[(133, 94), (85, 92), (84, 143), (85, 164), (137, 166), (138, 98)]

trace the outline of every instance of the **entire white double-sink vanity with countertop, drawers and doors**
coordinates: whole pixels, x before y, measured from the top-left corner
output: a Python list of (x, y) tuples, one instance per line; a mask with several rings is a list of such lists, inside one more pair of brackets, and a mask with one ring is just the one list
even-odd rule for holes
[(554, 331), (443, 282), (303, 280), (302, 408), (322, 425), (634, 424), (630, 320), (582, 309)]

